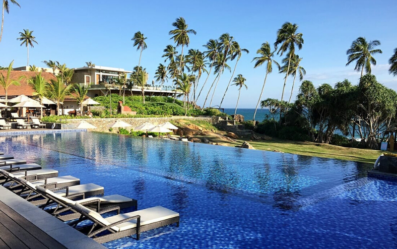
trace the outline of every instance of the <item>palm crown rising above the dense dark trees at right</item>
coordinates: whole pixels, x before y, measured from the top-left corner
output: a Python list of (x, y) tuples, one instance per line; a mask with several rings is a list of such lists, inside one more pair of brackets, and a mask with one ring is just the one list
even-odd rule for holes
[(376, 61), (372, 55), (382, 54), (382, 50), (374, 49), (379, 45), (381, 45), (379, 40), (367, 42), (365, 37), (359, 37), (351, 43), (350, 49), (346, 51), (346, 66), (348, 66), (351, 62), (356, 61), (354, 70), (358, 72), (361, 70), (360, 80), (363, 77), (364, 68), (366, 73), (371, 73), (371, 64), (376, 65)]

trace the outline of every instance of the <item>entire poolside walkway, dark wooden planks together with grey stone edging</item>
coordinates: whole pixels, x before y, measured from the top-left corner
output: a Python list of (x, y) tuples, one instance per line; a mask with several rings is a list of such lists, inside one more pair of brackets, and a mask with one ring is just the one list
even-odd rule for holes
[(106, 249), (0, 186), (0, 249)]

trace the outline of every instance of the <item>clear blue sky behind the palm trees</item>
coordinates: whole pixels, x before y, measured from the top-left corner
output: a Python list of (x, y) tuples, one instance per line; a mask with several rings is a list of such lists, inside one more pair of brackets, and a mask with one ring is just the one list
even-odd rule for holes
[[(23, 29), (29, 29), (34, 31), (38, 42), (34, 48), (29, 48), (30, 65), (44, 67), (43, 61), (53, 60), (74, 68), (91, 61), (96, 65), (132, 70), (138, 64), (139, 52), (132, 46), (131, 38), (140, 31), (147, 37), (141, 65), (149, 73), (150, 83), (158, 64), (164, 63), (161, 58), (164, 48), (174, 45), (168, 35), (174, 29), (172, 23), (182, 16), (189, 28), (197, 32), (197, 35), (190, 35), (188, 49), (204, 51), (202, 45), (209, 39), (229, 33), (241, 48), (250, 51), (242, 55), (234, 77), (242, 74), (247, 79), (248, 90), (241, 90), (239, 108), (255, 108), (265, 78), (265, 66), (254, 68), (252, 60), (263, 43), (274, 43), (276, 32), (284, 22), (291, 22), (298, 24), (298, 32), (303, 34), (303, 48), (296, 54), (303, 58), (304, 80), (311, 80), (315, 86), (323, 83), (333, 86), (344, 79), (357, 84), (360, 73), (354, 71), (354, 64), (345, 66), (346, 50), (352, 41), (362, 36), (367, 40), (380, 40), (378, 48), (383, 54), (375, 55), (377, 65), (372, 67), (372, 73), (379, 82), (397, 90), (397, 77), (388, 73), (388, 60), (397, 48), (396, 0), (17, 1), (21, 8), (10, 3), (9, 14), (4, 16), (1, 66), (8, 66), (12, 60), (14, 67), (26, 65), (26, 47), (21, 47), (16, 38)], [(181, 48), (178, 50), (180, 53)], [(274, 59), (281, 62), (282, 58), (276, 55)], [(229, 62), (232, 69), (234, 64), (235, 61)], [(199, 88), (205, 76), (201, 77)], [(261, 100), (281, 98), (284, 76), (276, 70), (268, 75)], [(219, 105), (230, 77), (228, 71), (222, 74), (212, 106)], [(214, 78), (211, 73), (198, 105), (204, 102)], [(289, 98), (292, 81), (289, 77), (284, 100)], [(297, 79), (292, 100), (300, 83)], [(166, 83), (171, 84), (171, 81)], [(212, 92), (209, 98), (211, 95)], [(222, 107), (234, 108), (237, 96), (238, 88), (230, 86)]]

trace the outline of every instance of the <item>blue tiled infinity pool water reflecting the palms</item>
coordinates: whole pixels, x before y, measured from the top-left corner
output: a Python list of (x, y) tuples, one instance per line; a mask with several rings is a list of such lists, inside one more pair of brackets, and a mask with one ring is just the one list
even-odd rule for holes
[(396, 248), (397, 184), (371, 165), (95, 132), (0, 137), (0, 150), (181, 215), (108, 248)]

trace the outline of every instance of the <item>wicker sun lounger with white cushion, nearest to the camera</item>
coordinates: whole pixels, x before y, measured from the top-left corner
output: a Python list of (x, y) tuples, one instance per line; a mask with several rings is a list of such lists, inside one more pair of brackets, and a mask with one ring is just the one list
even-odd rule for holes
[(76, 226), (80, 221), (91, 220), (94, 223), (93, 225), (78, 230), (99, 243), (106, 243), (134, 234), (136, 234), (136, 240), (139, 240), (140, 233), (147, 230), (174, 223), (179, 227), (179, 213), (162, 206), (118, 214), (108, 218), (103, 218), (100, 213), (78, 203), (71, 207), (79, 212), (81, 217), (69, 225)]

